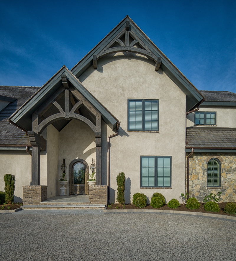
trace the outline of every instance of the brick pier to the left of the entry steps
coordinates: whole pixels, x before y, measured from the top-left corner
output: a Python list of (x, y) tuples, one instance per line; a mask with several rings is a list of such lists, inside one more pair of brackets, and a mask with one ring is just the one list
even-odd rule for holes
[(23, 186), (23, 205), (38, 205), (47, 199), (47, 186)]

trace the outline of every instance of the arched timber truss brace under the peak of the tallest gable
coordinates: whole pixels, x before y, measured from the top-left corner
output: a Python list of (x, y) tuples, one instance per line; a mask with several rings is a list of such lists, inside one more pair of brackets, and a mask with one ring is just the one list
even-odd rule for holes
[[(121, 38), (125, 36), (124, 42)], [(130, 36), (134, 39), (130, 43)], [(120, 46), (112, 47), (114, 43), (118, 43)], [(135, 47), (136, 45), (136, 47)], [(139, 46), (139, 47), (137, 47)], [(93, 66), (94, 69), (97, 69), (97, 60), (102, 58), (103, 56), (116, 52), (133, 52), (144, 55), (151, 60), (155, 61), (155, 71), (158, 71), (161, 65), (161, 57), (157, 57), (153, 54), (153, 52), (145, 45), (144, 42), (130, 29), (130, 22), (127, 21), (125, 24), (125, 28), (119, 33), (117, 38), (109, 42), (109, 44), (101, 50), (97, 55), (93, 55)]]

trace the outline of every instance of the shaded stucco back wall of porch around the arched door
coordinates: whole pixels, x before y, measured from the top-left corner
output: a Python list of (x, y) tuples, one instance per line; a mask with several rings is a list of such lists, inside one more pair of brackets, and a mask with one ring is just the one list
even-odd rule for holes
[[(65, 178), (68, 178), (68, 168), (72, 160), (83, 159), (89, 166), (93, 158), (96, 160), (95, 134), (88, 125), (78, 120), (72, 120), (59, 132), (58, 179), (61, 175), (60, 166), (63, 158), (67, 166)], [(89, 173), (91, 173), (90, 169)], [(68, 185), (66, 193), (68, 194)], [(58, 194), (60, 194), (60, 186)]]

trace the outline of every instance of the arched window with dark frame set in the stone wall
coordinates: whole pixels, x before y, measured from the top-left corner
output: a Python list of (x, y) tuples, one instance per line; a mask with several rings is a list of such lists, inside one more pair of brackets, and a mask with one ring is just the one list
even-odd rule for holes
[(207, 187), (220, 187), (220, 162), (214, 158), (207, 163)]

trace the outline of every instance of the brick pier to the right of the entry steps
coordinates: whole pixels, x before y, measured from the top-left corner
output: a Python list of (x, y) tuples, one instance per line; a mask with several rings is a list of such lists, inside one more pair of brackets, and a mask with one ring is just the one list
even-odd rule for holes
[(89, 201), (91, 204), (107, 205), (107, 186), (89, 186)]

